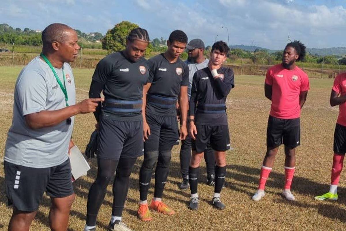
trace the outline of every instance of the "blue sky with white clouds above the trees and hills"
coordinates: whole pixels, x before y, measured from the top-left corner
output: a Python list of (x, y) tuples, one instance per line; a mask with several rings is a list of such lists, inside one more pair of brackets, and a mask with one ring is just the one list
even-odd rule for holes
[[(0, 24), (43, 30), (64, 23), (103, 35), (126, 20), (167, 39), (175, 29), (207, 45), (282, 50), (288, 37), (307, 47), (346, 47), (346, 0), (1, 0)], [(224, 26), (224, 28), (222, 28)]]

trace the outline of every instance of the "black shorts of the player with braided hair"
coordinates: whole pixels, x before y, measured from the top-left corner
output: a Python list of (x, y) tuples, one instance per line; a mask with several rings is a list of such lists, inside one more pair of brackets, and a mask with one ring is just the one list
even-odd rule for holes
[(97, 158), (135, 158), (143, 156), (143, 149), (143, 121), (100, 119)]

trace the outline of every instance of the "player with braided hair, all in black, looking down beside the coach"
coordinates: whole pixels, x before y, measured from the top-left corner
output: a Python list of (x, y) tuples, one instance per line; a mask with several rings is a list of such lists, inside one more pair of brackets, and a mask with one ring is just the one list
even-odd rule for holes
[(104, 57), (92, 76), (89, 97), (99, 96), (103, 91), (105, 101), (94, 113), (96, 127), (99, 127), (98, 172), (89, 190), (85, 231), (95, 230), (98, 211), (115, 172), (109, 228), (130, 230), (121, 222), (121, 214), (132, 167), (144, 151), (142, 98), (149, 71), (142, 56), (148, 44), (149, 35), (145, 29), (131, 30), (126, 49)]

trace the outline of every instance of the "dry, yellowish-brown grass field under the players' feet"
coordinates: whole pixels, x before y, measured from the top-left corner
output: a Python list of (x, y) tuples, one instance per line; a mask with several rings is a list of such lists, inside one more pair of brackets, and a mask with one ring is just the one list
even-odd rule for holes
[[(21, 66), (0, 67), (0, 153), (12, 120), (13, 88)], [(75, 69), (77, 100), (88, 97), (93, 70)], [(251, 196), (256, 190), (260, 166), (265, 153), (265, 134), (270, 101), (264, 97), (264, 77), (241, 75), (235, 77), (235, 88), (227, 99), (229, 129), (233, 151), (227, 153), (226, 187), (221, 199), (226, 204), (223, 211), (210, 205), (213, 188), (204, 184), (205, 164), (201, 166), (199, 184), (200, 208), (187, 208), (189, 190), (180, 190), (179, 146), (173, 149), (171, 171), (164, 191), (164, 202), (176, 214), (165, 216), (153, 213), (152, 222), (140, 222), (137, 217), (139, 200), (138, 173), (143, 158), (139, 158), (130, 177), (130, 189), (125, 204), (123, 221), (133, 230), (346, 230), (345, 174), (342, 174), (336, 202), (317, 202), (313, 196), (329, 189), (330, 168), (333, 157), (333, 132), (338, 114), (329, 106), (333, 79), (310, 79), (308, 98), (301, 115), (301, 146), (297, 149), (297, 169), (292, 191), (296, 201), (288, 202), (281, 196), (284, 185), (284, 154), (280, 148), (270, 178), (266, 195), (259, 202)], [(81, 150), (94, 128), (92, 114), (78, 115), (73, 137)], [(2, 161), (2, 160), (1, 160)], [(72, 206), (69, 230), (82, 230), (85, 224), (88, 189), (95, 179), (96, 160), (89, 161), (88, 176), (74, 183), (76, 199)], [(202, 161), (203, 162), (203, 161)], [(148, 199), (153, 197), (153, 183)], [(0, 230), (6, 230), (11, 208), (6, 206), (3, 164), (0, 165)], [(106, 230), (112, 205), (112, 189), (108, 192), (98, 215), (98, 230)], [(31, 225), (31, 230), (49, 230), (49, 199), (42, 206)]]

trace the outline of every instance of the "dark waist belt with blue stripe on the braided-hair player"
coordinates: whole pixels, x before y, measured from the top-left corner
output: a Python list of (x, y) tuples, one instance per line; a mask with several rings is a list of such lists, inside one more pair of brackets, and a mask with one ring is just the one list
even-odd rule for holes
[(139, 100), (117, 100), (106, 99), (103, 108), (112, 112), (140, 112), (142, 110), (142, 99)]

